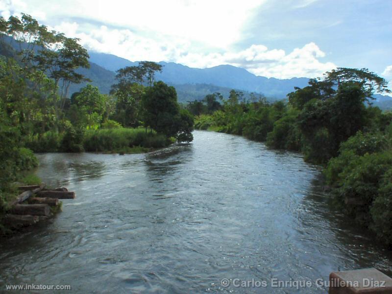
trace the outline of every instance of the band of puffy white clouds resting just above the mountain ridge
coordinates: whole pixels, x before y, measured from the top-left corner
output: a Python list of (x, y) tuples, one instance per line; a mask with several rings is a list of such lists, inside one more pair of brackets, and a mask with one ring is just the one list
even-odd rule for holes
[(315, 43), (296, 48), (289, 54), (282, 49), (268, 49), (264, 45), (252, 45), (238, 52), (203, 53), (193, 51), (192, 42), (172, 36), (148, 38), (129, 29), (109, 29), (106, 26), (86, 33), (76, 23), (62, 23), (54, 28), (80, 38), (82, 45), (88, 49), (112, 53), (132, 61), (173, 61), (196, 68), (230, 64), (256, 75), (277, 78), (316, 77), (336, 68), (331, 62), (319, 61), (319, 58), (325, 57), (325, 53)]

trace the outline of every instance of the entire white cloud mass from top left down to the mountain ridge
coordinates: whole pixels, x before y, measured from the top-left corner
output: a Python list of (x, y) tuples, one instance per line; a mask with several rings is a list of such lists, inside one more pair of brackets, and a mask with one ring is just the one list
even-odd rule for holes
[[(29, 13), (40, 23), (79, 38), (87, 49), (132, 61), (172, 61), (196, 68), (230, 64), (277, 78), (316, 77), (336, 67), (320, 61), (325, 53), (315, 43), (289, 53), (261, 44), (233, 50), (243, 37), (243, 25), (266, 1), (11, 0), (0, 10), (4, 16)], [(304, 7), (312, 2), (296, 3)]]

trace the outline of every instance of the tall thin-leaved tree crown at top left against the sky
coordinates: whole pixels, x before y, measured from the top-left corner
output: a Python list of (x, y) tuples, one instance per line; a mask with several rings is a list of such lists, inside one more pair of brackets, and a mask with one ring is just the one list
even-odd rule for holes
[(24, 78), (32, 85), (30, 88), (41, 90), (46, 87), (47, 76), (53, 79), (51, 95), (43, 98), (52, 101), (59, 120), (70, 84), (88, 80), (76, 72), (79, 67), (90, 66), (87, 50), (78, 44), (78, 39), (48, 30), (27, 14), (22, 14), (21, 19), (11, 16), (8, 21), (0, 18), (0, 33), (3, 43), (4, 36), (11, 43), (12, 40), (17, 43), (18, 46), (12, 46), (15, 49), (13, 56), (23, 65)]

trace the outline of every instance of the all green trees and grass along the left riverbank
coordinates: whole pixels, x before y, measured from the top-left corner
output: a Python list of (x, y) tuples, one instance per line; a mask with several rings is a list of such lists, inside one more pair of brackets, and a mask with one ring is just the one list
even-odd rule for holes
[(157, 63), (119, 70), (110, 95), (86, 84), (68, 98), (72, 84), (89, 82), (78, 41), (26, 14), (0, 17), (0, 219), (13, 182), (40, 181), (24, 172), (38, 165), (33, 151), (134, 153), (193, 140), (193, 116), (154, 82)]

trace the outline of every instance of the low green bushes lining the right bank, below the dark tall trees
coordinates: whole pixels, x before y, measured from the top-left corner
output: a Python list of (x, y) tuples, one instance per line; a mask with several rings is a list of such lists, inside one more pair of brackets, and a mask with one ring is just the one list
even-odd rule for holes
[[(322, 138), (325, 134), (306, 139), (298, 111), (284, 104), (267, 104), (264, 108), (236, 115), (224, 111), (202, 115), (196, 118), (195, 127), (242, 135), (265, 142), (271, 149), (303, 153), (305, 161), (323, 168), (325, 189), (330, 191), (334, 207), (392, 249), (392, 115), (368, 108), (367, 112), (377, 114), (377, 120), (369, 121), (363, 130), (342, 141), (332, 156), (327, 151), (328, 142)], [(279, 115), (276, 109), (280, 109)], [(266, 113), (274, 119), (263, 118)]]

